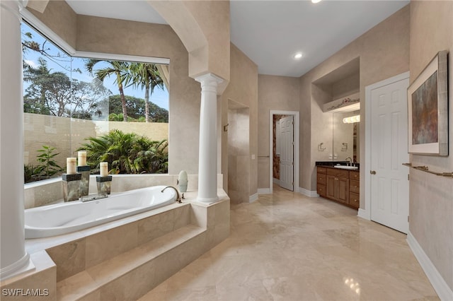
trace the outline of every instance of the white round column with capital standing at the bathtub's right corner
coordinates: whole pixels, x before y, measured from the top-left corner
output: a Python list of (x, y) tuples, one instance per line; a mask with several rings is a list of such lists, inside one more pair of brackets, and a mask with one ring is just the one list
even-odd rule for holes
[(217, 201), (217, 85), (222, 78), (212, 73), (195, 78), (201, 83), (198, 201)]

